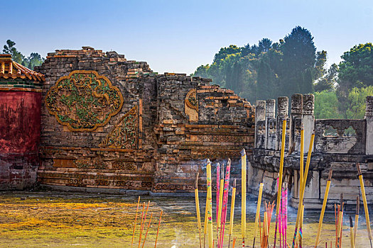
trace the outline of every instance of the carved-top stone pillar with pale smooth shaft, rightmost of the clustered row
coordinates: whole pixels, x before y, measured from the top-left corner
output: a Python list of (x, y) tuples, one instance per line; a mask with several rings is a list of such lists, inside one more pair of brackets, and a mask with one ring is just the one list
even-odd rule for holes
[[(303, 128), (304, 128), (304, 153), (308, 152), (310, 147), (310, 137), (315, 130), (315, 116), (313, 111), (315, 108), (315, 96), (313, 94), (303, 96)], [(313, 144), (315, 150), (315, 144)]]

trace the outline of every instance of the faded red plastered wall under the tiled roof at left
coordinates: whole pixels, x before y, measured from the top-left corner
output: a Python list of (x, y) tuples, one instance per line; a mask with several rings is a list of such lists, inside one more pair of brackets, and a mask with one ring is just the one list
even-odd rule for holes
[(41, 93), (0, 91), (0, 188), (36, 181)]

